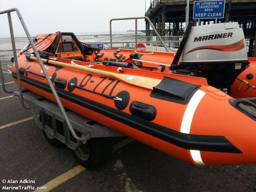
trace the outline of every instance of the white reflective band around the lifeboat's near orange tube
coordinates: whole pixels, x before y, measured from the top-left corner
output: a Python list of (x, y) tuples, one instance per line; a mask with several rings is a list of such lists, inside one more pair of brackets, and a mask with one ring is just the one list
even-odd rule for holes
[[(196, 108), (200, 103), (201, 99), (204, 97), (204, 95), (205, 95), (204, 91), (197, 90), (196, 93), (191, 97), (181, 122), (181, 127), (180, 127), (181, 133), (186, 133), (186, 134), (190, 133), (190, 127), (191, 127), (191, 123), (192, 123)], [(200, 151), (190, 150), (190, 154), (196, 164), (205, 165), (201, 158)]]

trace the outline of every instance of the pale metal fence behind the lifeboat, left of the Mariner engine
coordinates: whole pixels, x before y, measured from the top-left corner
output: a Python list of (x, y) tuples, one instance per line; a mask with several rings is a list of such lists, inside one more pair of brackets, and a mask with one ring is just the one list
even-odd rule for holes
[[(162, 36), (164, 44), (169, 49), (170, 52), (176, 52), (180, 46), (182, 36)], [(166, 51), (161, 41), (157, 36), (139, 36), (138, 43), (143, 43), (146, 46), (146, 50), (151, 51)], [(110, 42), (86, 42), (88, 44), (100, 44), (103, 43), (104, 48), (111, 48)], [(121, 49), (135, 49), (134, 41), (119, 41), (112, 42), (113, 48)]]

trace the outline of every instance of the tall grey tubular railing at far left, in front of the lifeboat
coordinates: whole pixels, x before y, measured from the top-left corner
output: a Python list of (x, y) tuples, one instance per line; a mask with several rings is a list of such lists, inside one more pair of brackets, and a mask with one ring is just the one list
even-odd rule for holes
[[(69, 121), (69, 119), (68, 119), (68, 116), (67, 116), (67, 114), (66, 114), (66, 111), (65, 111), (65, 109), (64, 109), (64, 107), (63, 107), (63, 105), (62, 105), (62, 103), (61, 103), (61, 101), (60, 101), (60, 98), (59, 98), (59, 96), (58, 96), (58, 94), (57, 94), (57, 92), (56, 92), (56, 90), (55, 90), (55, 88), (54, 88), (54, 86), (53, 86), (53, 84), (52, 84), (52, 81), (51, 81), (51, 79), (50, 79), (50, 77), (49, 77), (49, 75), (48, 75), (48, 73), (47, 73), (47, 71), (46, 71), (46, 69), (45, 69), (45, 67), (44, 67), (44, 64), (43, 64), (43, 62), (42, 62), (42, 60), (41, 60), (41, 58), (40, 58), (40, 56), (39, 56), (39, 53), (38, 53), (38, 51), (36, 50), (35, 44), (34, 44), (32, 38), (31, 38), (31, 36), (30, 36), (30, 34), (29, 34), (29, 32), (28, 32), (28, 28), (27, 28), (27, 26), (25, 25), (25, 22), (24, 22), (24, 20), (23, 20), (21, 14), (20, 14), (20, 11), (19, 11), (17, 8), (12, 8), (12, 9), (8, 9), (8, 10), (5, 10), (5, 11), (1, 11), (1, 12), (0, 12), (0, 15), (7, 13), (7, 16), (8, 16), (9, 28), (10, 28), (10, 33), (11, 33), (11, 41), (12, 41), (12, 51), (13, 51), (14, 64), (15, 64), (16, 75), (17, 75), (17, 84), (18, 84), (18, 88), (19, 88), (19, 98), (20, 98), (21, 105), (22, 105), (24, 108), (29, 109), (29, 107), (25, 106), (25, 104), (24, 104), (24, 99), (23, 99), (23, 94), (22, 94), (22, 88), (21, 88), (21, 83), (20, 83), (19, 66), (18, 66), (17, 53), (16, 53), (16, 47), (15, 47), (15, 41), (14, 41), (14, 34), (13, 34), (13, 27), (12, 27), (11, 12), (16, 12), (17, 15), (18, 15), (18, 18), (20, 19), (20, 23), (21, 23), (21, 25), (22, 25), (22, 27), (23, 27), (25, 33), (26, 33), (26, 36), (27, 36), (27, 38), (28, 38), (28, 41), (29, 41), (29, 43), (30, 43), (30, 45), (31, 45), (31, 47), (32, 47), (32, 49), (33, 49), (35, 55), (36, 55), (36, 58), (37, 58), (37, 60), (38, 60), (38, 63), (39, 63), (39, 65), (40, 65), (40, 67), (41, 67), (41, 69), (42, 69), (42, 71), (43, 71), (43, 73), (44, 73), (44, 76), (45, 76), (45, 78), (46, 78), (46, 80), (47, 80), (47, 82), (48, 82), (48, 84), (49, 84), (49, 87), (51, 88), (52, 94), (54, 95), (54, 98), (56, 99), (56, 102), (57, 102), (57, 104), (58, 104), (58, 106), (59, 106), (59, 108), (60, 108), (60, 111), (62, 112), (62, 114), (63, 114), (63, 116), (64, 116), (64, 118), (65, 118), (65, 121), (66, 121), (66, 123), (67, 123), (67, 125), (68, 125), (68, 128), (69, 128), (71, 134), (72, 134), (73, 137), (74, 137), (76, 140), (78, 140), (78, 141), (86, 141), (86, 138), (85, 138), (83, 135), (82, 135), (81, 137), (78, 137), (78, 136), (76, 135), (76, 132), (75, 132), (75, 130), (73, 129), (73, 127), (72, 127), (72, 125), (71, 125), (71, 123), (70, 123), (70, 121)], [(2, 81), (3, 90), (4, 90), (6, 93), (13, 93), (13, 91), (7, 91), (7, 90), (5, 89), (5, 84), (4, 84), (4, 77), (3, 77), (3, 71), (2, 71), (1, 61), (0, 61), (0, 75), (1, 75), (1, 81)]]

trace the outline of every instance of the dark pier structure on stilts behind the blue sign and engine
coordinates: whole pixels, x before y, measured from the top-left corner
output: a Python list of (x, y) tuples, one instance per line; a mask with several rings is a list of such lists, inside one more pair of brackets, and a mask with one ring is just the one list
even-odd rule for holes
[[(180, 36), (186, 27), (187, 0), (152, 0), (145, 13), (161, 36)], [(215, 19), (193, 19), (194, 0), (189, 0), (189, 21), (196, 25), (207, 25)], [(238, 22), (244, 30), (249, 57), (256, 57), (256, 0), (226, 0), (225, 16), (220, 22)], [(155, 36), (146, 21), (146, 36)]]

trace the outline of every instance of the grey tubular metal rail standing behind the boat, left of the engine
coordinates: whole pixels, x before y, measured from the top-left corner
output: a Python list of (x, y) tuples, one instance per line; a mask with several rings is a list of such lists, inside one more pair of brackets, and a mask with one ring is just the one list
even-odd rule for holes
[[(112, 21), (116, 20), (132, 20), (135, 19), (135, 42), (137, 42), (137, 19), (146, 19), (148, 23), (151, 25), (153, 31), (156, 33), (156, 36), (159, 38), (160, 42), (164, 46), (165, 50), (169, 52), (168, 48), (164, 44), (164, 41), (162, 40), (161, 36), (157, 32), (156, 28), (154, 27), (153, 23), (150, 21), (148, 17), (127, 17), (127, 18), (116, 18), (116, 19), (110, 19), (109, 21), (109, 30), (110, 30), (110, 47), (112, 48)], [(137, 43), (136, 43), (136, 48), (137, 48)]]

